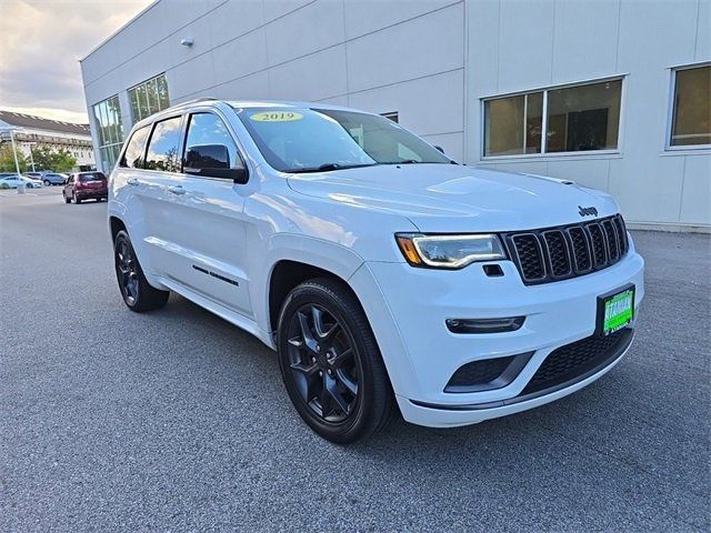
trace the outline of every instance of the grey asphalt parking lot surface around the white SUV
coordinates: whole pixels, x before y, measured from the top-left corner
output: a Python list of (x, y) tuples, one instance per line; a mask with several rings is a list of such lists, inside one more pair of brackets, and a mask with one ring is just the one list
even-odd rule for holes
[(0, 531), (709, 531), (711, 239), (635, 232), (637, 341), (544, 408), (352, 447), (273, 353), (120, 300), (106, 203), (0, 193)]

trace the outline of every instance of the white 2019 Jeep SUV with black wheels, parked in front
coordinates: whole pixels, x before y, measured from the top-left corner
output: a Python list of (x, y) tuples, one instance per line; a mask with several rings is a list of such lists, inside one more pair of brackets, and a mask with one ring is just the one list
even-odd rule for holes
[(254, 334), (340, 443), (395, 404), (455, 426), (570, 394), (620, 361), (643, 294), (610, 195), (457, 164), (327, 104), (204, 99), (139, 122), (109, 225), (131, 310), (174, 291)]

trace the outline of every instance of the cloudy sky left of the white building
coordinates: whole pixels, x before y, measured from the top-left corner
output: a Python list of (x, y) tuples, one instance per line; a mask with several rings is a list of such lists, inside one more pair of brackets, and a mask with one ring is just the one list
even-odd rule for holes
[(79, 60), (150, 0), (0, 0), (0, 109), (88, 122)]

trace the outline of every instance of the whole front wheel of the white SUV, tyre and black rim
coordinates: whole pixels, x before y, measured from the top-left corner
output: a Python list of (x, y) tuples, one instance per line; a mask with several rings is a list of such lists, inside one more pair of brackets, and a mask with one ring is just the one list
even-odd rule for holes
[(393, 412), (390, 380), (365, 313), (343, 283), (316, 279), (282, 306), (279, 365), (301, 418), (329, 441), (350, 444)]

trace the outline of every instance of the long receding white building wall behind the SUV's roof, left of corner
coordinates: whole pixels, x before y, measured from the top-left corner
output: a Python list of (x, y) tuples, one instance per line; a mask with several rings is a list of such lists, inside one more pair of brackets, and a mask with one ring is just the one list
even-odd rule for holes
[(126, 90), (166, 71), (171, 103), (210, 95), (398, 111), (461, 159), (463, 56), (462, 0), (160, 0), (81, 67), (88, 107), (119, 93), (127, 131)]

